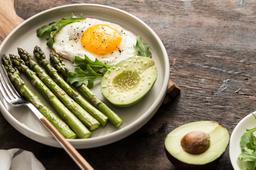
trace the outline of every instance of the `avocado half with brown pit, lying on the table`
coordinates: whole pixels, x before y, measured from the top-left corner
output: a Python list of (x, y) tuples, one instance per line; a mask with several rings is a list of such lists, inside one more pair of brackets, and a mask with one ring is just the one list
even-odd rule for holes
[[(199, 132), (200, 135), (187, 137), (193, 132), (196, 132), (194, 134)], [(200, 147), (204, 147), (205, 151), (203, 150), (201, 153), (185, 151), (186, 148), (182, 147), (184, 138), (188, 139), (186, 141), (191, 140), (190, 145), (194, 146), (194, 150), (200, 150)], [(164, 141), (164, 148), (166, 156), (176, 168), (180, 170), (207, 170), (222, 157), (228, 144), (229, 132), (227, 128), (216, 121), (195, 121), (184, 124), (168, 133)]]

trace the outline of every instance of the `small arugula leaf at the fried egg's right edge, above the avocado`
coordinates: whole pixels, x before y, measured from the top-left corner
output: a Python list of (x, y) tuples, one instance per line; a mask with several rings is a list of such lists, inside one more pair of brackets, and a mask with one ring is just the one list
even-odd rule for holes
[(137, 36), (136, 40), (137, 40), (137, 43), (136, 43), (135, 46), (133, 46), (133, 48), (138, 51), (137, 55), (141, 56), (141, 57), (151, 58), (152, 54), (148, 50), (149, 49), (149, 45), (144, 43), (144, 42), (142, 42), (140, 36)]

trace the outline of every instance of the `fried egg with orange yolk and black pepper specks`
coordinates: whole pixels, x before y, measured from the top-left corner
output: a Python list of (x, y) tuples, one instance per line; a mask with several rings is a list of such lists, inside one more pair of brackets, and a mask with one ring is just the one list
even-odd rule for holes
[(54, 35), (53, 49), (72, 61), (75, 56), (96, 58), (108, 65), (137, 55), (136, 36), (117, 24), (86, 18), (64, 26)]

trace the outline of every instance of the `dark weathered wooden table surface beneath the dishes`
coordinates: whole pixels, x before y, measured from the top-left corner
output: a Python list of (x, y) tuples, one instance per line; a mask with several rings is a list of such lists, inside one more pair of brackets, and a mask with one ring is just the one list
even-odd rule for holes
[[(164, 43), (170, 78), (181, 88), (132, 135), (79, 149), (95, 170), (175, 170), (164, 152), (168, 132), (192, 121), (213, 120), (231, 135), (236, 124), (256, 110), (253, 0), (16, 0), (16, 13), (26, 20), (52, 7), (85, 2), (122, 9), (148, 24)], [(0, 114), (0, 149), (11, 148), (33, 152), (47, 170), (79, 169), (63, 149), (25, 137)], [(213, 169), (233, 169), (229, 148)]]

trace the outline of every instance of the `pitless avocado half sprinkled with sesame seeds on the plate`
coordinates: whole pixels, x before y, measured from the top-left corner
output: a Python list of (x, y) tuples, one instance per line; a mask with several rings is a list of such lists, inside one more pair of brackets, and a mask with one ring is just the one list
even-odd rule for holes
[(141, 100), (155, 84), (157, 68), (148, 57), (133, 56), (112, 66), (101, 80), (103, 96), (117, 107)]

